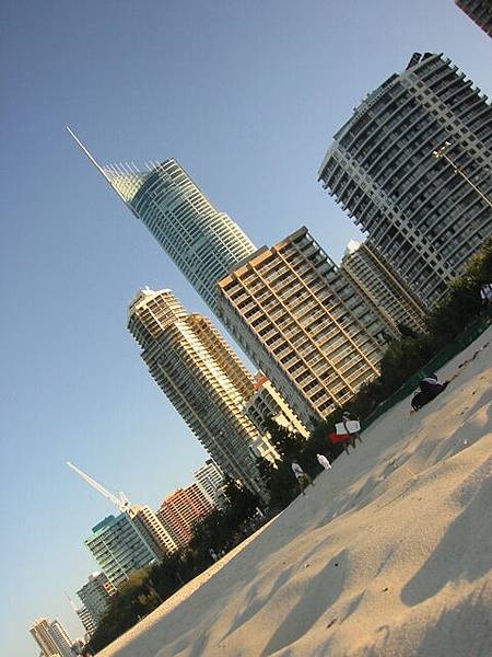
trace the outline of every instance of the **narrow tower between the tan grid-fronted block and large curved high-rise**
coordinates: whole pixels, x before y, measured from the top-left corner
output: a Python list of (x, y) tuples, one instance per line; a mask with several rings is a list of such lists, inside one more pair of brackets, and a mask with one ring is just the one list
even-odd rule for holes
[(424, 331), (425, 307), (384, 261), (370, 240), (363, 244), (352, 240), (340, 269), (394, 331), (400, 332), (402, 326), (417, 333)]

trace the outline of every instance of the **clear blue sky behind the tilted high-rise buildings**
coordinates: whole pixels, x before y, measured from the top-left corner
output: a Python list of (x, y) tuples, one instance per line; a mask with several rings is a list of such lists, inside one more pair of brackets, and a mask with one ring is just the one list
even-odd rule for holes
[(491, 39), (453, 0), (4, 0), (0, 653), (81, 625), (83, 539), (113, 512), (66, 465), (156, 508), (204, 460), (126, 330), (138, 289), (197, 293), (65, 130), (104, 162), (177, 158), (258, 245), (358, 237), (317, 183), (331, 136), (414, 50), (487, 93)]

